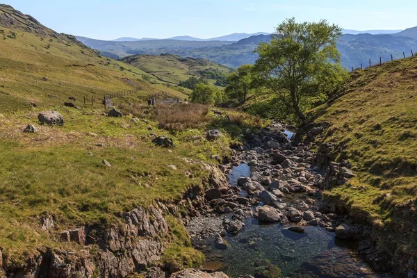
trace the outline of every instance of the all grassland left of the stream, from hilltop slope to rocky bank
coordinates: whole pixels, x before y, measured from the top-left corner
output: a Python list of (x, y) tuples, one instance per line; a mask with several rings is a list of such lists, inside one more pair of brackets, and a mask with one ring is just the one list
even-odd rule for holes
[[(185, 96), (148, 83), (138, 68), (101, 57), (10, 6), (0, 5), (0, 32), (0, 250), (8, 265), (24, 265), (46, 246), (76, 251), (56, 240), (61, 231), (106, 227), (137, 206), (177, 199), (206, 179), (203, 162), (229, 154), (227, 130), (240, 130), (236, 123), (218, 126), (224, 137), (209, 142), (204, 132), (223, 117), (207, 106), (141, 106), (151, 95)], [(115, 99), (124, 117), (102, 114), (104, 94), (133, 88), (138, 92)], [(95, 104), (84, 105), (83, 97)], [(61, 113), (65, 124), (40, 125), (45, 110)], [(22, 132), (29, 123), (37, 133)], [(164, 134), (172, 149), (152, 144)], [(54, 219), (51, 234), (40, 227), (43, 216)]]

